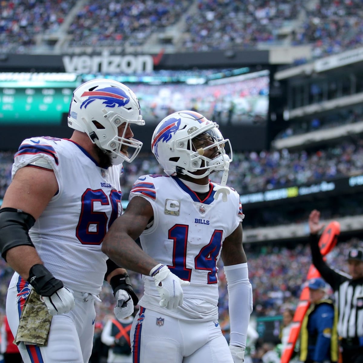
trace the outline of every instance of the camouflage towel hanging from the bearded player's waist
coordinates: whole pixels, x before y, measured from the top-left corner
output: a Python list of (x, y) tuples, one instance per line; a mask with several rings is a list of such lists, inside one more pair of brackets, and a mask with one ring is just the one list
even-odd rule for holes
[(14, 343), (33, 344), (38, 347), (46, 346), (52, 315), (40, 300), (34, 289), (30, 291), (20, 315), (20, 323)]

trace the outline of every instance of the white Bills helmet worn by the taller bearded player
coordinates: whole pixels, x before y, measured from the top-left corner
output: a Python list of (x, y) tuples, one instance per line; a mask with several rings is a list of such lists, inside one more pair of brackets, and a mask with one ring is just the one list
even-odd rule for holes
[[(126, 123), (122, 136), (117, 128)], [(91, 141), (112, 155), (112, 164), (131, 162), (141, 150), (142, 142), (125, 138), (129, 124), (145, 125), (140, 103), (134, 92), (112, 79), (92, 79), (73, 92), (69, 107), (68, 126), (86, 132)], [(134, 148), (131, 156), (121, 152), (121, 146)]]

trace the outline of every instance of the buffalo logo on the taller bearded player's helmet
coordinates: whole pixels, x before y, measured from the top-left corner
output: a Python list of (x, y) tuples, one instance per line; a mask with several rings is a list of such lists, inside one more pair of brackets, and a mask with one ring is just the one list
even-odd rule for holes
[(87, 97), (85, 101), (82, 102), (81, 109), (83, 106), (85, 108), (96, 99), (103, 100), (102, 104), (106, 107), (121, 107), (129, 103), (130, 98), (127, 97), (126, 93), (117, 87), (106, 87), (94, 91), (85, 91), (82, 93), (81, 97)]

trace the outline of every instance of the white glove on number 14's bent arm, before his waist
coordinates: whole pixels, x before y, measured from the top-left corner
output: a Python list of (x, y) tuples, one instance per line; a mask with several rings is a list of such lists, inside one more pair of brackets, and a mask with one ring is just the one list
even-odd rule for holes
[(155, 281), (156, 289), (161, 297), (159, 305), (167, 309), (176, 309), (183, 305), (183, 289), (181, 286), (189, 285), (189, 281), (181, 280), (174, 275), (167, 266), (156, 265), (150, 271), (150, 276)]

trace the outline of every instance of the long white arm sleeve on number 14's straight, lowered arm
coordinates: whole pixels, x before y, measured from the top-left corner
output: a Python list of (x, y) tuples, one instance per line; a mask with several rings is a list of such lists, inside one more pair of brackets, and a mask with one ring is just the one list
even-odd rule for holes
[(252, 313), (252, 285), (248, 280), (247, 262), (224, 266), (229, 297), (230, 345), (246, 348), (249, 317)]

